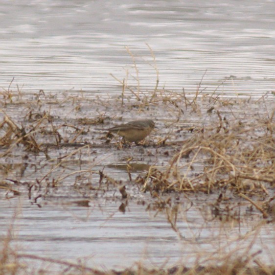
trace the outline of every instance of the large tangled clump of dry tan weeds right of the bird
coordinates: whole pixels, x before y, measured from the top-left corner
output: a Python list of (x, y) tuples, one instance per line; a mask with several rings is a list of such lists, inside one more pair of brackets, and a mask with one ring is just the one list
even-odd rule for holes
[(254, 206), (267, 217), (275, 187), (274, 112), (246, 123), (229, 122), (218, 111), (217, 115), (217, 122), (181, 142), (168, 167), (152, 166), (136, 182), (151, 194), (229, 190), (250, 202), (249, 197), (256, 196), (261, 206)]

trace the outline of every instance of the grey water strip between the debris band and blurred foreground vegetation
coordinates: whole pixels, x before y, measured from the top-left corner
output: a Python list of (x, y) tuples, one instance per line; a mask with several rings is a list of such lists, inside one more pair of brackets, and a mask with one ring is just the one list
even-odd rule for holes
[[(19, 211), (15, 210), (18, 204)], [(4, 238), (17, 211), (13, 228), (17, 252), (45, 253), (64, 260), (85, 256), (88, 265), (106, 268), (128, 267), (142, 257), (157, 265), (166, 261), (171, 265), (183, 259), (191, 264), (198, 252), (207, 258), (217, 250), (221, 255), (230, 247), (235, 250), (236, 245), (241, 252), (250, 246), (255, 235), (255, 249), (261, 242), (265, 243), (263, 257), (274, 251), (272, 225), (260, 227), (257, 219), (250, 218), (248, 224), (215, 220), (209, 223), (205, 220), (206, 209), (201, 212), (199, 205), (183, 203), (177, 210), (144, 214), (145, 206), (119, 204), (95, 200), (87, 208), (47, 202), (37, 208), (20, 199), (1, 200), (0, 236)], [(252, 224), (255, 231), (248, 235)], [(268, 261), (270, 255), (266, 256)]]

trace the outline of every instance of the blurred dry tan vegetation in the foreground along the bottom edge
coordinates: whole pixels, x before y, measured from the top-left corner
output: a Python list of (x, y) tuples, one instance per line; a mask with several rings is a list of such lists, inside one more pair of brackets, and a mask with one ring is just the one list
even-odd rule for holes
[[(16, 213), (15, 213), (16, 216)], [(14, 218), (16, 218), (14, 216)], [(3, 240), (3, 245), (0, 253), (0, 274), (73, 274), (73, 275), (273, 275), (275, 267), (267, 265), (257, 259), (257, 256), (262, 253), (261, 250), (251, 252), (252, 244), (255, 236), (258, 234), (258, 229), (254, 232), (249, 232), (244, 238), (252, 236), (252, 241), (246, 249), (237, 247), (235, 250), (228, 252), (226, 245), (224, 248), (215, 250), (207, 256), (204, 252), (198, 252), (195, 263), (192, 267), (184, 264), (177, 264), (172, 267), (166, 266), (165, 262), (162, 267), (148, 268), (143, 265), (142, 261), (138, 261), (130, 268), (125, 270), (104, 271), (102, 269), (91, 268), (85, 264), (85, 261), (79, 260), (76, 263), (63, 259), (53, 259), (28, 253), (19, 253), (14, 251), (10, 242), (13, 234), (13, 224), (10, 225), (7, 237)], [(186, 243), (187, 245), (187, 243)], [(223, 251), (226, 250), (227, 252)], [(188, 256), (187, 256), (188, 257)], [(35, 263), (33, 266), (25, 261)], [(218, 264), (213, 264), (218, 263)], [(39, 266), (35, 268), (34, 266)]]

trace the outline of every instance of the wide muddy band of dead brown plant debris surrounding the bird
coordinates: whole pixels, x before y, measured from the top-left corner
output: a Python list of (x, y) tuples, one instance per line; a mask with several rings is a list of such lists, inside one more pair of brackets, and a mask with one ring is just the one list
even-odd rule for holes
[[(223, 190), (267, 217), (275, 185), (274, 109), (268, 96), (222, 98), (216, 91), (206, 93), (201, 83), (195, 94), (157, 87), (152, 92), (140, 87), (134, 91), (124, 83), (123, 98), (106, 100), (89, 98), (81, 91), (55, 95), (13, 92), (11, 87), (2, 91), (3, 179), (34, 183), (40, 193), (33, 197), (43, 198), (51, 188), (61, 189), (65, 180), (85, 196), (106, 194), (112, 186), (122, 199), (131, 198), (127, 186), (135, 183), (153, 199), (156, 194), (219, 194)], [(104, 129), (133, 117), (152, 118), (156, 123), (143, 143), (136, 146), (106, 137)], [(127, 167), (124, 179), (109, 170), (98, 172), (105, 166), (119, 170), (117, 160)], [(135, 165), (147, 168), (129, 168)], [(119, 186), (126, 186), (125, 192)], [(15, 189), (10, 186), (10, 190)]]

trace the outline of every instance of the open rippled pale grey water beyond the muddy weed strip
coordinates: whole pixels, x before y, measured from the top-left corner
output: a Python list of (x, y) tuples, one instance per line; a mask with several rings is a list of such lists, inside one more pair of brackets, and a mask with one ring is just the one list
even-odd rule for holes
[[(273, 0), (0, 2), (0, 85), (22, 90), (153, 89), (260, 96), (274, 91)], [(156, 57), (153, 62), (148, 44)], [(129, 54), (125, 47), (131, 51)], [(127, 77), (128, 75), (128, 77)], [(13, 90), (16, 87), (13, 86)]]

